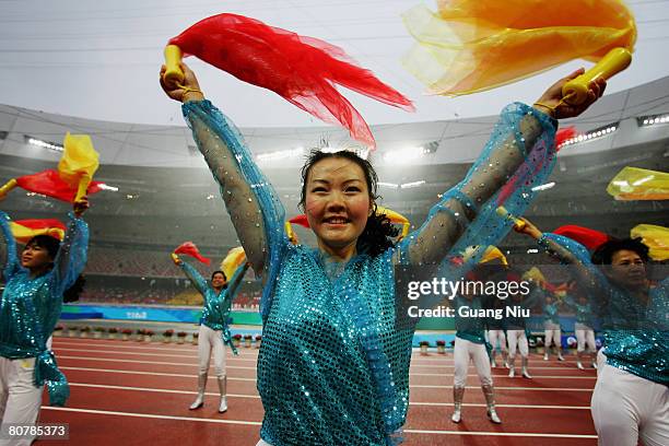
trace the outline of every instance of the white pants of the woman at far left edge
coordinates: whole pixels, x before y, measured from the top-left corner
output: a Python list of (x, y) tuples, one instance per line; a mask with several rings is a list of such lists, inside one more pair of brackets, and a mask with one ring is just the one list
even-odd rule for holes
[[(42, 387), (33, 384), (35, 359), (8, 360), (0, 357), (0, 419), (2, 424), (37, 422), (42, 404)], [(24, 446), (33, 438), (0, 439), (2, 446)]]

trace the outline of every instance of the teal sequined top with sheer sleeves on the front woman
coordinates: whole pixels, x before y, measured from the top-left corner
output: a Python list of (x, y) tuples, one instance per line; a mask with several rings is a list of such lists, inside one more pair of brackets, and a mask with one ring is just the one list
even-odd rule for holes
[[(397, 443), (409, 406), (415, 320), (396, 298), (394, 267), (435, 265), (442, 277), (456, 279), (477, 265), (482, 250), (458, 268), (446, 256), (495, 244), (509, 231), (513, 222), (496, 208), (523, 213), (531, 187), (554, 164), (555, 122), (526, 105), (508, 106), (479, 161), (421, 228), (377, 257), (359, 251), (333, 267), (317, 250), (289, 243), (283, 206), (234, 125), (209, 101), (183, 110), (265, 282), (262, 439), (273, 446)], [(506, 178), (513, 190), (497, 200)]]

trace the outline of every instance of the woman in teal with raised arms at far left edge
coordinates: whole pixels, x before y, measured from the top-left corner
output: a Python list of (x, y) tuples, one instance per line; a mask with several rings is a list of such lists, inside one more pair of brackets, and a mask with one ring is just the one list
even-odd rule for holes
[[(34, 425), (45, 383), (52, 406), (63, 406), (70, 395), (47, 342), (60, 317), (63, 293), (86, 265), (89, 226), (81, 216), (87, 208), (85, 198), (74, 203), (62, 243), (38, 235), (28, 240), (21, 258), (9, 216), (0, 211), (0, 280), (5, 284), (0, 300), (2, 425)], [(0, 445), (30, 445), (33, 439), (0, 439)]]

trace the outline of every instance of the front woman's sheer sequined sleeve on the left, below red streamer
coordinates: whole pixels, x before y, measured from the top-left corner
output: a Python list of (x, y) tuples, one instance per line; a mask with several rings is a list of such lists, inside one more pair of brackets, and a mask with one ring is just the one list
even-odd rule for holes
[(289, 244), (283, 230), (285, 211), (232, 121), (209, 101), (188, 102), (183, 111), (221, 186), (223, 201), (254, 271), (262, 277), (260, 312), (265, 318)]

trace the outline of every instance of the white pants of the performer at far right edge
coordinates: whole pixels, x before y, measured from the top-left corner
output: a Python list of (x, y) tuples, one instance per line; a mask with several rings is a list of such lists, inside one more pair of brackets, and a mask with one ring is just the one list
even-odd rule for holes
[(611, 365), (598, 371), (590, 406), (600, 446), (669, 445), (669, 388)]

